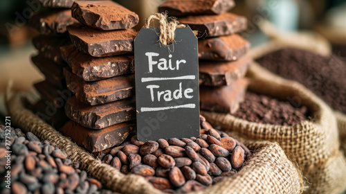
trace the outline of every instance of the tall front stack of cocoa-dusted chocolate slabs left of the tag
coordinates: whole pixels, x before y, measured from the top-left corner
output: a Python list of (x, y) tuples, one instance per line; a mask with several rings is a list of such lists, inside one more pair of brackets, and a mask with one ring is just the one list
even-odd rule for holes
[(62, 46), (64, 77), (74, 96), (60, 132), (98, 154), (134, 131), (133, 42), (138, 15), (113, 1), (75, 1), (67, 27), (73, 45)]

